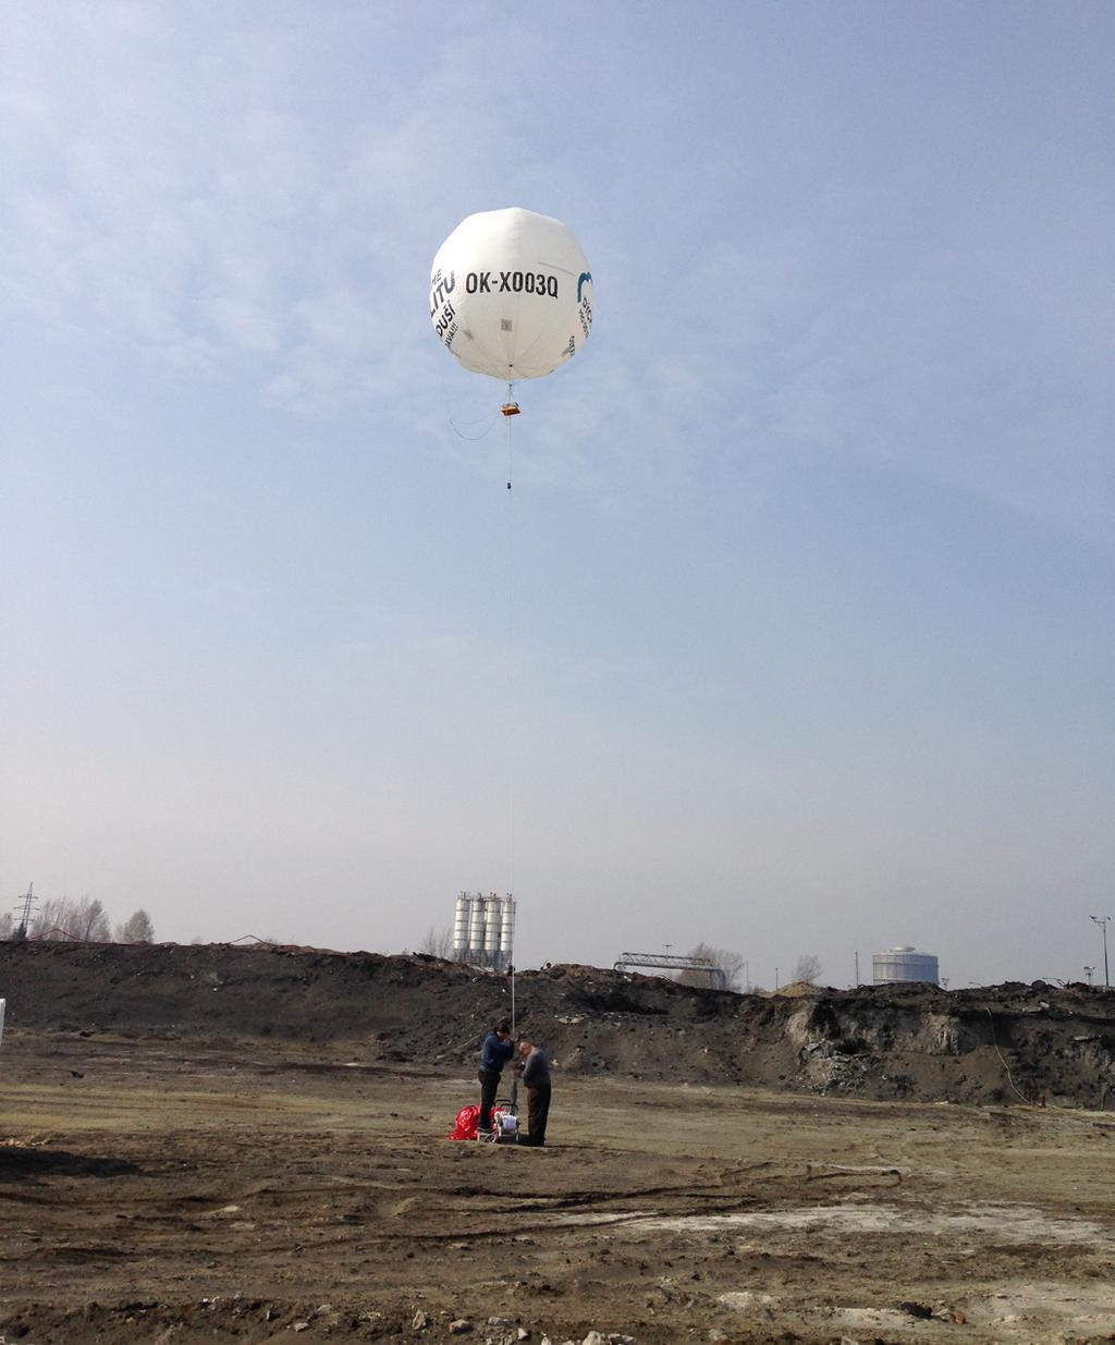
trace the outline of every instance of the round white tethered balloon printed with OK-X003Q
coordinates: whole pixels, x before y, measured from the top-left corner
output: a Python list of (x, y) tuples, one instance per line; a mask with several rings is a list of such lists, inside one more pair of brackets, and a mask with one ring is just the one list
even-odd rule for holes
[(433, 258), (430, 321), (473, 374), (542, 378), (592, 331), (592, 273), (560, 219), (486, 210), (463, 219)]

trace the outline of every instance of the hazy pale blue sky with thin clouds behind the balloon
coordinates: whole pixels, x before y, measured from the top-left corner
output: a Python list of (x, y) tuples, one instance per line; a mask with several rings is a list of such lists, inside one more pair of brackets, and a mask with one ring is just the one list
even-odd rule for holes
[[(4, 907), (394, 952), (514, 884), (523, 966), (1102, 974), (1114, 44), (1107, 3), (8, 0)], [(508, 498), (426, 300), (512, 204), (596, 324)]]

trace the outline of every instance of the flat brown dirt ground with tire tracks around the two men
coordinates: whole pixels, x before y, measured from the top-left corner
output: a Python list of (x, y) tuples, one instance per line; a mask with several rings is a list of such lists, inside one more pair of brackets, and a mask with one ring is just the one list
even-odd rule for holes
[(582, 1072), (543, 1150), (444, 1139), (475, 1092), (9, 1032), (0, 1340), (1115, 1341), (1115, 1114)]

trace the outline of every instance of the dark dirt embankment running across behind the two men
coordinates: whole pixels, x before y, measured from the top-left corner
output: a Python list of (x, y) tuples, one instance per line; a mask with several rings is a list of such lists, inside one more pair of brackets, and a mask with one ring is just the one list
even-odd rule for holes
[[(424, 956), (229, 944), (0, 944), (8, 1025), (301, 1044), (456, 1073), (506, 976)], [(593, 967), (519, 974), (518, 1026), (568, 1073), (859, 1098), (1115, 1106), (1115, 995), (1037, 982), (737, 995)]]

